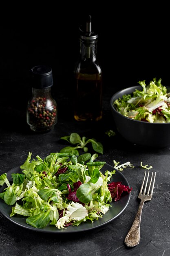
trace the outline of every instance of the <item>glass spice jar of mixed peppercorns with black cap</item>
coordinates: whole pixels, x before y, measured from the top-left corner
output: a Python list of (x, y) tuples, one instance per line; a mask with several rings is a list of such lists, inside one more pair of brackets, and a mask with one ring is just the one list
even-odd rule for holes
[(28, 102), (26, 121), (35, 132), (49, 132), (57, 123), (57, 103), (51, 97), (51, 67), (35, 66), (32, 73), (32, 97)]

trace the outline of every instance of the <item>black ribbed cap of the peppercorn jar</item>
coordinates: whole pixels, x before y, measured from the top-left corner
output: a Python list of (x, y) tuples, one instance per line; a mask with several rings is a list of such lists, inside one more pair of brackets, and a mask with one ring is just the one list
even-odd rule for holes
[(49, 66), (35, 66), (31, 68), (32, 87), (36, 89), (48, 88), (53, 85), (52, 68)]

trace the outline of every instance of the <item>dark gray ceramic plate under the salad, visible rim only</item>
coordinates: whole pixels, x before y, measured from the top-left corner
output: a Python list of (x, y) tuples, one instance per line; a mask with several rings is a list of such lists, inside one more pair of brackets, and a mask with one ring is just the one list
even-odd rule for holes
[[(109, 164), (105, 164), (101, 171), (102, 171), (102, 173), (105, 173), (106, 170), (113, 171), (113, 169), (114, 169), (113, 166), (111, 166)], [(12, 181), (11, 173), (21, 173), (20, 166), (14, 167), (10, 171), (7, 172), (7, 178), (9, 179), (9, 181)], [(116, 173), (112, 176), (112, 179), (110, 180), (110, 182), (113, 182), (113, 181), (114, 182), (122, 181), (122, 184), (130, 187), (130, 185), (129, 185), (128, 181), (126, 180), (126, 178), (124, 177), (124, 175), (119, 171), (116, 171)], [(0, 193), (2, 192), (2, 190), (5, 187), (6, 187), (6, 185), (4, 185), (0, 188)], [(15, 224), (17, 224), (21, 227), (24, 227), (26, 229), (31, 229), (34, 231), (39, 231), (39, 232), (44, 232), (44, 233), (74, 233), (74, 232), (95, 229), (97, 227), (101, 227), (101, 226), (107, 224), (108, 222), (114, 220), (115, 218), (117, 218), (117, 216), (119, 216), (125, 210), (125, 208), (128, 205), (129, 200), (130, 200), (130, 194), (127, 194), (126, 192), (124, 192), (121, 195), (121, 199), (119, 201), (111, 202), (112, 207), (110, 207), (108, 212), (106, 214), (104, 214), (102, 218), (99, 218), (99, 220), (95, 220), (93, 223), (84, 222), (84, 223), (81, 223), (77, 227), (68, 226), (66, 229), (57, 229), (53, 225), (48, 225), (48, 226), (44, 227), (43, 229), (37, 229), (35, 227), (32, 227), (32, 226), (26, 224), (26, 217), (24, 217), (24, 216), (15, 214), (15, 216), (10, 217), (12, 207), (7, 205), (4, 202), (4, 200), (2, 200), (2, 199), (0, 199), (0, 211), (7, 219), (9, 219), (10, 221), (14, 222)]]

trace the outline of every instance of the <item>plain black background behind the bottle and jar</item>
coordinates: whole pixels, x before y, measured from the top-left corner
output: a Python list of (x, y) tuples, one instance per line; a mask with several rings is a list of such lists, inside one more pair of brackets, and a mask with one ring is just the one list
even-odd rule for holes
[(35, 65), (52, 67), (53, 97), (59, 110), (72, 111), (78, 27), (88, 13), (92, 16), (92, 29), (99, 34), (97, 52), (103, 94), (110, 90), (111, 98), (121, 88), (135, 86), (141, 80), (149, 83), (154, 77), (161, 78), (163, 85), (170, 85), (170, 22), (166, 5), (7, 3), (0, 16), (0, 102), (4, 111), (9, 106), (26, 108), (32, 93), (29, 72)]

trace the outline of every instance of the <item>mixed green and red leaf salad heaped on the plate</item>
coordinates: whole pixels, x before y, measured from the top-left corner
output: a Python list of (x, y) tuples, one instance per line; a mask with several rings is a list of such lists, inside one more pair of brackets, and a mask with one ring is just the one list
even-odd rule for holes
[(13, 173), (12, 184), (7, 173), (0, 176), (0, 185), (7, 185), (0, 193), (1, 200), (11, 205), (10, 217), (26, 216), (26, 223), (42, 229), (55, 225), (57, 229), (102, 218), (110, 202), (120, 200), (123, 191), (130, 193), (122, 182), (110, 182), (115, 170), (102, 174), (106, 162), (98, 162), (97, 154), (72, 155), (51, 153), (44, 159), (32, 153)]

